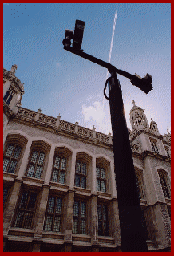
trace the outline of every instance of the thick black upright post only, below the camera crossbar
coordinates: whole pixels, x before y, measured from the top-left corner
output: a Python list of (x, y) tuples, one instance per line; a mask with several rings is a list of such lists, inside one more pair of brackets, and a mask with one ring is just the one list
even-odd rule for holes
[(125, 120), (121, 86), (117, 74), (113, 72), (111, 75), (109, 78), (109, 104), (113, 129), (121, 249), (123, 252), (146, 252), (148, 247), (141, 224), (140, 200), (136, 189), (136, 174)]

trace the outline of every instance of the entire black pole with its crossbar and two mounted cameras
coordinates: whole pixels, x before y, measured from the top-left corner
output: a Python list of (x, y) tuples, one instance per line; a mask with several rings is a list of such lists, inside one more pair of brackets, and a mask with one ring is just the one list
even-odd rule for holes
[[(125, 71), (118, 70), (110, 63), (97, 59), (92, 55), (86, 54), (81, 50), (85, 22), (76, 21), (74, 37), (77, 39), (76, 47), (71, 47), (70, 40), (73, 39), (73, 31), (65, 30), (65, 39), (63, 40), (64, 49), (97, 63), (101, 67), (109, 70), (111, 77), (109, 82), (109, 100), (111, 123), (113, 130), (113, 153), (116, 173), (117, 199), (121, 227), (121, 249), (123, 252), (146, 252), (145, 233), (142, 226), (140, 214), (140, 200), (136, 187), (136, 174), (132, 160), (132, 150), (129, 141), (129, 132), (125, 120), (122, 91), (117, 73), (129, 78), (133, 85), (139, 87), (146, 94), (152, 90), (152, 76), (147, 74), (143, 79), (138, 75), (131, 75)], [(78, 30), (80, 29), (80, 33)], [(81, 31), (82, 30), (82, 31)], [(80, 46), (80, 47), (79, 47)]]

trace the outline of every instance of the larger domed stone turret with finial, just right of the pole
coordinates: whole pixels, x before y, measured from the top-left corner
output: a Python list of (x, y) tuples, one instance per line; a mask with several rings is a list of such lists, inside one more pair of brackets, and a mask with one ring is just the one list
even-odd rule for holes
[(133, 107), (130, 110), (130, 123), (132, 126), (132, 132), (141, 128), (149, 128), (148, 120), (144, 114), (144, 110), (137, 107), (135, 101), (132, 101)]

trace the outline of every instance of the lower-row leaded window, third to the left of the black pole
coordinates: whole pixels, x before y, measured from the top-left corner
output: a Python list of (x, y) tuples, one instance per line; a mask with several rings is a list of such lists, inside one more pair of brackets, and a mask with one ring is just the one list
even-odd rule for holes
[(45, 217), (45, 230), (60, 232), (62, 219), (62, 198), (50, 196)]

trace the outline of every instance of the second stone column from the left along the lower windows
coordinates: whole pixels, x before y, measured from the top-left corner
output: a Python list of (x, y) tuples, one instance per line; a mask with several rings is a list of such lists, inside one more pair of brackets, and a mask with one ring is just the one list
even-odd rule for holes
[(34, 218), (34, 227), (35, 227), (35, 233), (34, 233), (34, 239), (38, 242), (42, 242), (42, 231), (45, 221), (45, 212), (46, 212), (46, 206), (49, 196), (49, 185), (43, 185), (42, 191), (39, 194), (38, 198), (38, 207), (36, 209), (36, 214)]

